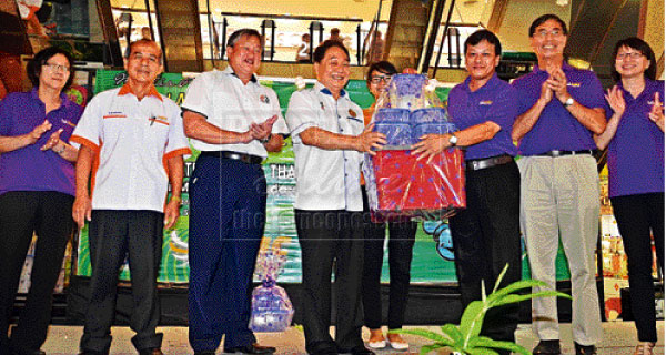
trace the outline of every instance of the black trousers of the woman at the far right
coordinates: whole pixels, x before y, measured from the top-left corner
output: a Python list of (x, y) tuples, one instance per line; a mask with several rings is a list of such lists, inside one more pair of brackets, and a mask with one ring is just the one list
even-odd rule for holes
[(664, 273), (664, 193), (612, 197), (610, 203), (627, 254), (632, 313), (638, 331), (638, 341), (657, 342), (649, 235), (652, 231), (657, 265)]

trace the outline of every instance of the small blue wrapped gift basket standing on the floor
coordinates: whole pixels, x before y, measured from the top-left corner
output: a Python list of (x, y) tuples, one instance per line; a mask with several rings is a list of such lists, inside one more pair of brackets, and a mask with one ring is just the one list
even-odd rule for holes
[(256, 274), (261, 285), (252, 291), (250, 329), (253, 332), (284, 332), (294, 316), (294, 307), (284, 288), (276, 285), (286, 255), (269, 247), (256, 261)]

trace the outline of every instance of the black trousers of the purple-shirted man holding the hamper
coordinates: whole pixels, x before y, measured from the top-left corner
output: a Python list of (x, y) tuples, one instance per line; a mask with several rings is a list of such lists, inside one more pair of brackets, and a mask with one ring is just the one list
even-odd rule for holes
[[(451, 236), (463, 307), (481, 300), (483, 280), (486, 294), (508, 263), (500, 287), (521, 280), (521, 174), (515, 162), (466, 171), (467, 209), (451, 217)], [(496, 341), (514, 341), (518, 305), (492, 308), (482, 335)]]

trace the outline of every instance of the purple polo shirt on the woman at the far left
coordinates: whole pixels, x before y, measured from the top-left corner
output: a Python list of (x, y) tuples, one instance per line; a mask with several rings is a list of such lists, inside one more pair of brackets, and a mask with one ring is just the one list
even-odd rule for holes
[(0, 135), (16, 136), (31, 132), (44, 122), (50, 131), (34, 143), (0, 154), (0, 194), (9, 191), (57, 191), (74, 195), (74, 165), (52, 150), (40, 151), (51, 134), (63, 129), (60, 139), (69, 141), (83, 109), (60, 95), (62, 104), (44, 118), (46, 105), (37, 89), (14, 92), (0, 101)]

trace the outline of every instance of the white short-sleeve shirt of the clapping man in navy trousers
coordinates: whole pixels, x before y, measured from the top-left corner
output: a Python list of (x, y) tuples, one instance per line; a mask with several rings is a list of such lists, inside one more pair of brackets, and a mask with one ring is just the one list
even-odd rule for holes
[[(246, 132), (251, 123), (262, 123), (278, 115), (272, 133), (287, 133), (275, 92), (260, 84), (254, 75), (248, 84), (243, 84), (231, 67), (196, 77), (188, 88), (182, 108), (196, 112), (205, 116), (209, 123), (231, 132)], [(261, 158), (269, 155), (258, 140), (248, 144), (210, 144), (195, 139), (191, 142), (200, 151), (233, 151)]]

